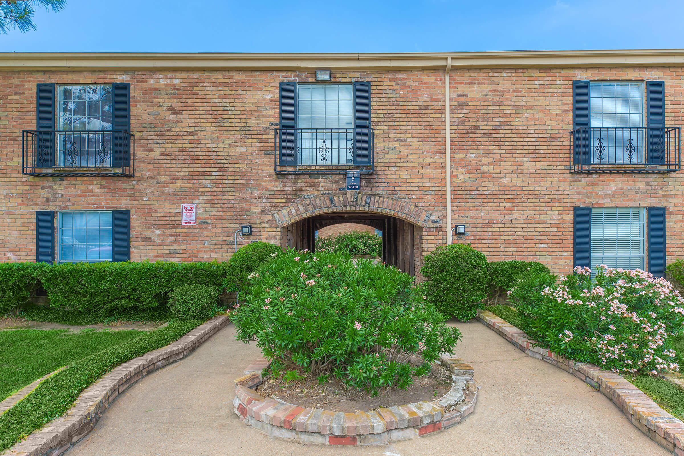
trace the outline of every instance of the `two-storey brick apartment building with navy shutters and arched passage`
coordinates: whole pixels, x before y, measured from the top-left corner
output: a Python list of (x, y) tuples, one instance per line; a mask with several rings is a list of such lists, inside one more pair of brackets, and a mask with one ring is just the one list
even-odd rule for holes
[(490, 259), (662, 273), (684, 256), (683, 66), (662, 50), (2, 53), (0, 260), (225, 260), (242, 225), (241, 244), (311, 247), (360, 223), (416, 274), (457, 225)]

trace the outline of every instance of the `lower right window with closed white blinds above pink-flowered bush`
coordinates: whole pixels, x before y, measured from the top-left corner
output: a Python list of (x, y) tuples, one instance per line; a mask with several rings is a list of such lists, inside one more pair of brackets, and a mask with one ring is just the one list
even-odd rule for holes
[(592, 208), (592, 271), (596, 265), (644, 269), (643, 208)]

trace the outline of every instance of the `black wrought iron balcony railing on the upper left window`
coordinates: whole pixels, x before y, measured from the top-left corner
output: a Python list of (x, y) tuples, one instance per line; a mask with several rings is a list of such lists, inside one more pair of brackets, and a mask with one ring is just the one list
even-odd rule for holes
[(133, 176), (135, 135), (123, 130), (24, 130), (21, 172), (29, 176)]

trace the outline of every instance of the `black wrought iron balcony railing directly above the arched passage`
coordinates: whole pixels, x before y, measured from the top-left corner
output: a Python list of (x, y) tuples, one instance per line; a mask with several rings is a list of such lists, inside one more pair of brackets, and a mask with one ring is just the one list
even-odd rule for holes
[(373, 173), (374, 136), (369, 127), (353, 129), (274, 130), (277, 174)]

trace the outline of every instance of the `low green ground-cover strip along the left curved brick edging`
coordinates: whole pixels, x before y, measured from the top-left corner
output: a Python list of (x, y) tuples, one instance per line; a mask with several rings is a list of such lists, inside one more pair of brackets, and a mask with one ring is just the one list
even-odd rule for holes
[(45, 380), (23, 401), (0, 416), (0, 452), (51, 420), (62, 416), (79, 397), (81, 391), (119, 364), (169, 345), (200, 323), (201, 321), (197, 320), (179, 321), (142, 333), (133, 340), (74, 362)]

